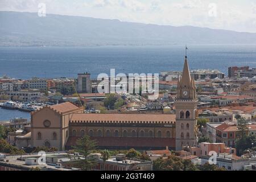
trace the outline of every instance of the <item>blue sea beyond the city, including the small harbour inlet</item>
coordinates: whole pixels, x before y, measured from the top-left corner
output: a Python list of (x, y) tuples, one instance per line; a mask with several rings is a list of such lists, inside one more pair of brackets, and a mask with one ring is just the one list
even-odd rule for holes
[[(225, 74), (230, 66), (256, 68), (256, 45), (188, 45), (190, 69), (218, 69)], [(0, 47), (0, 76), (14, 78), (77, 77), (89, 72), (160, 73), (181, 71), (185, 46), (109, 47)], [(30, 118), (29, 113), (0, 109), (0, 121)]]

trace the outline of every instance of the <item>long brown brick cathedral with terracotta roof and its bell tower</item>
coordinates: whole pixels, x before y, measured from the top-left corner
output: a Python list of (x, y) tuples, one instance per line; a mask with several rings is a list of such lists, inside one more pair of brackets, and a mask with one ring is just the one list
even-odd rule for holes
[(196, 86), (185, 57), (177, 85), (176, 114), (85, 114), (70, 102), (31, 113), (31, 147), (70, 150), (89, 135), (98, 148), (115, 150), (181, 150), (196, 144)]

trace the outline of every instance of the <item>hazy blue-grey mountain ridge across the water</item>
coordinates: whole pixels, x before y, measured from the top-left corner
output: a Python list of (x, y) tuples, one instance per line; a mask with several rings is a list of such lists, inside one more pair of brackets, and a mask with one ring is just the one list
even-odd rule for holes
[(0, 46), (256, 44), (256, 34), (0, 11)]

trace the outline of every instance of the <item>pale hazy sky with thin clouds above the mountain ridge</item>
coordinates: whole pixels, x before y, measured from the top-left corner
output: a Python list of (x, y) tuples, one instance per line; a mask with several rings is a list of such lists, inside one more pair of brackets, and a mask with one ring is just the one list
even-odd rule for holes
[(0, 0), (1, 11), (80, 15), (126, 22), (256, 32), (255, 0)]

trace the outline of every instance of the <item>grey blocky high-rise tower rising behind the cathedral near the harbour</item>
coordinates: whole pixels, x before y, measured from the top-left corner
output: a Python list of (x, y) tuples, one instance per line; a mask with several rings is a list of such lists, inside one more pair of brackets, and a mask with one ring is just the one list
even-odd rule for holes
[(92, 93), (92, 86), (90, 82), (90, 73), (79, 73), (77, 78), (77, 92), (78, 93)]

